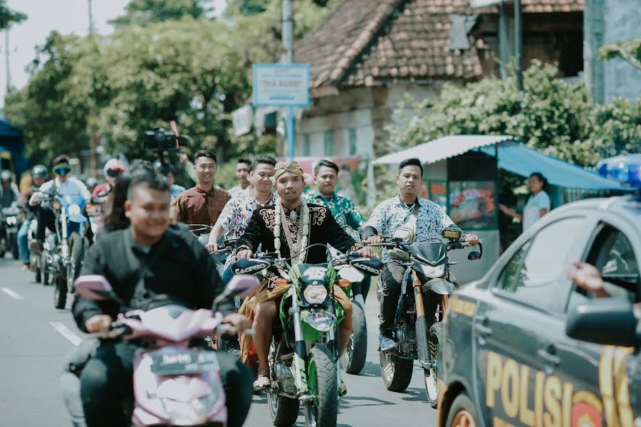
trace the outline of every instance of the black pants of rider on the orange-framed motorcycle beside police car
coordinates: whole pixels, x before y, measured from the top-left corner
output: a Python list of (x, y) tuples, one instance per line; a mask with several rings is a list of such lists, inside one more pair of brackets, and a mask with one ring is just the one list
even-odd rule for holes
[[(400, 263), (392, 261), (385, 264), (385, 269), (382, 272), (382, 298), (380, 300), (380, 326), (381, 331), (394, 330), (394, 320), (396, 317), (396, 309), (398, 307), (398, 299), (401, 292), (401, 282), (403, 274), (407, 267)], [(422, 282), (427, 282), (427, 278), (420, 277)], [(410, 275), (412, 280), (412, 275)], [(411, 285), (408, 285), (411, 286)], [(434, 325), (434, 315), (436, 314), (439, 305), (439, 295), (428, 291), (424, 298), (425, 303), (425, 320), (427, 322), (427, 330)]]

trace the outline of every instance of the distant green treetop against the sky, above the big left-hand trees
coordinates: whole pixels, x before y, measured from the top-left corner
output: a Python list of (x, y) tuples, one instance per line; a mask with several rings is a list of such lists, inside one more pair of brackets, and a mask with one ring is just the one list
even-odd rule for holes
[(212, 0), (131, 0), (125, 14), (110, 21), (114, 26), (141, 25), (181, 19), (191, 16), (204, 18), (213, 8)]

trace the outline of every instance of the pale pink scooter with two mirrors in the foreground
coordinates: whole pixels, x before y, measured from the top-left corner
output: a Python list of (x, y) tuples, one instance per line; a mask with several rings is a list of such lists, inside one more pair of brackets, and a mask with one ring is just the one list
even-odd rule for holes
[[(222, 300), (251, 295), (258, 287), (254, 276), (236, 275), (214, 306)], [(90, 300), (122, 304), (103, 276), (80, 276), (75, 288)], [(133, 426), (226, 425), (226, 400), (216, 353), (189, 347), (191, 338), (238, 332), (222, 320), (222, 315), (212, 310), (165, 305), (146, 312), (125, 312), (110, 331), (90, 334), (102, 339), (145, 338), (153, 343), (151, 348), (138, 349), (134, 358)]]

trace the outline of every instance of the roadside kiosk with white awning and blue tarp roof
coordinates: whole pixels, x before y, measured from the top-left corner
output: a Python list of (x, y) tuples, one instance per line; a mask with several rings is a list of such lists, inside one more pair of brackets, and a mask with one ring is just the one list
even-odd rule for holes
[[(450, 259), (459, 283), (481, 278), (500, 254), (499, 174), (501, 169), (529, 176), (541, 172), (551, 186), (554, 206), (575, 197), (580, 190), (626, 191), (617, 181), (526, 147), (509, 135), (452, 135), (434, 139), (401, 152), (387, 154), (374, 164), (396, 167), (404, 159), (417, 157), (424, 168), (420, 196), (442, 206), (452, 221), (483, 241), (483, 258), (469, 261), (467, 251), (452, 251)], [(394, 171), (396, 172), (396, 171)], [(579, 193), (577, 193), (579, 190)], [(597, 194), (598, 195), (598, 194)]]

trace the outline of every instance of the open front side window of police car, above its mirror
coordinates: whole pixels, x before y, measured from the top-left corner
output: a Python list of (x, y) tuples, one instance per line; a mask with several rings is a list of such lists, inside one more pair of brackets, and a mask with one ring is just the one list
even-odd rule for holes
[[(600, 271), (605, 291), (610, 297), (634, 303), (641, 302), (637, 259), (630, 239), (622, 231), (608, 224), (601, 224), (585, 261)], [(594, 295), (575, 285), (570, 294), (568, 310), (593, 297)]]

